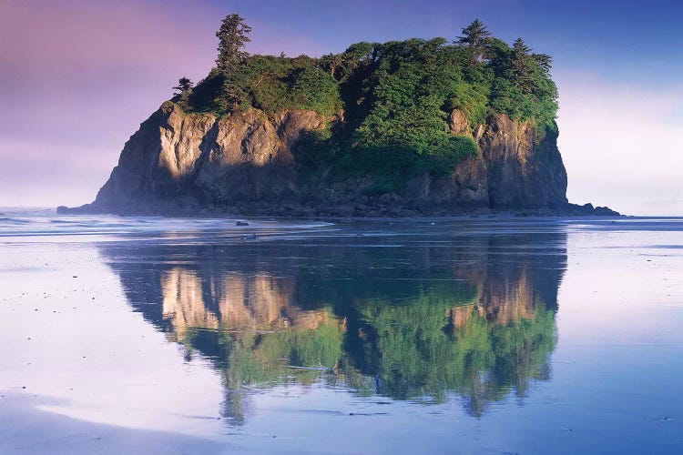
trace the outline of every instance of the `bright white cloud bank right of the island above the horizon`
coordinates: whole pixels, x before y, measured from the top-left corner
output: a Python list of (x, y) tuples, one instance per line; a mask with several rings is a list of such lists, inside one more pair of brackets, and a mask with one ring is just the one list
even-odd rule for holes
[(575, 73), (557, 79), (569, 199), (633, 215), (683, 215), (683, 86)]

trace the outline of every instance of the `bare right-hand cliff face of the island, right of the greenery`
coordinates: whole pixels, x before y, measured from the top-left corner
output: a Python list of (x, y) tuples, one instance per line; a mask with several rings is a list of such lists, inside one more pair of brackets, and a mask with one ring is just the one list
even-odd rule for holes
[(407, 196), (433, 204), (459, 207), (518, 209), (566, 204), (566, 170), (557, 149), (557, 135), (540, 136), (528, 122), (505, 114), (488, 116), (474, 131), (465, 116), (454, 110), (449, 128), (471, 136), (481, 155), (466, 159), (445, 178), (429, 174), (409, 182)]

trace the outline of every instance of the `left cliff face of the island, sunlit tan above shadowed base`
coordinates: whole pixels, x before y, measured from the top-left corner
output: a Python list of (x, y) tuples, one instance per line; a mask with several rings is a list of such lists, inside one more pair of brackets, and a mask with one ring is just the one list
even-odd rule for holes
[(270, 120), (250, 109), (217, 119), (165, 103), (128, 140), (89, 208), (144, 212), (291, 198), (291, 148), (302, 131), (322, 126), (312, 111)]

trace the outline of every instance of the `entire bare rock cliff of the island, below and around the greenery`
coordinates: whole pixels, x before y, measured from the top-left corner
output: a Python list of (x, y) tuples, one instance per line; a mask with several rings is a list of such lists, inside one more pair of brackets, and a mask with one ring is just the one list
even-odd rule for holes
[[(258, 206), (256, 211), (276, 215), (407, 216), (566, 205), (556, 134), (542, 134), (505, 114), (489, 116), (473, 130), (462, 113), (452, 113), (451, 132), (472, 136), (481, 153), (445, 177), (423, 172), (403, 190), (377, 196), (366, 196), (371, 182), (357, 179), (304, 182), (295, 162), (298, 140), (331, 121), (311, 110), (274, 118), (257, 109), (221, 118), (188, 115), (167, 102), (127, 141), (96, 200), (77, 210), (170, 213)], [(281, 205), (294, 208), (266, 209)]]

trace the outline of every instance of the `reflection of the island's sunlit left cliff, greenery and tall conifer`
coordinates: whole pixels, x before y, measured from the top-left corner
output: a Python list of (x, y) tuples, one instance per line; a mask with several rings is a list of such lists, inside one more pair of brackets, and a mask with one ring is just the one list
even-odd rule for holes
[[(310, 383), (342, 357), (342, 321), (328, 309), (293, 305), (294, 284), (234, 272), (200, 278), (178, 266), (160, 273), (168, 337), (184, 343), (189, 355), (198, 349), (216, 360), (225, 386), (223, 414), (233, 423), (249, 409), (243, 386)], [(292, 372), (291, 365), (321, 369)]]

